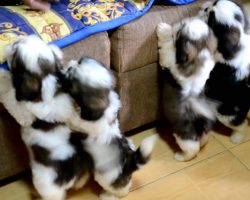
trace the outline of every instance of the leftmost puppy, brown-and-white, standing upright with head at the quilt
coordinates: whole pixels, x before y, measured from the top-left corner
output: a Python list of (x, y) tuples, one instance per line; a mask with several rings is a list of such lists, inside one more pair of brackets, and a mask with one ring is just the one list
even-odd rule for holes
[(61, 67), (60, 53), (36, 36), (19, 38), (6, 49), (16, 99), (35, 117), (22, 128), (22, 139), (29, 150), (34, 186), (44, 200), (65, 199), (67, 189), (87, 180), (91, 167), (80, 134), (66, 124), (75, 110), (55, 75)]

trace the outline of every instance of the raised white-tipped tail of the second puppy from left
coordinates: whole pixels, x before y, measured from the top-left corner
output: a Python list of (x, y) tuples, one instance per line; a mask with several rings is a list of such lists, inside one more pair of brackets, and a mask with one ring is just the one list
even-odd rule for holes
[(158, 138), (158, 135), (152, 135), (142, 140), (141, 145), (135, 152), (135, 160), (138, 168), (149, 161)]

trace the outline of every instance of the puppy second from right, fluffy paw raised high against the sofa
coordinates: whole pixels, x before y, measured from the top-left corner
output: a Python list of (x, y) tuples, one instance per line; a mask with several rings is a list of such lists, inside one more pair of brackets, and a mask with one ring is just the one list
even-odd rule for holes
[[(163, 42), (165, 32), (169, 32), (169, 25), (159, 24), (157, 35)], [(197, 18), (184, 21), (174, 34), (175, 63), (164, 66), (162, 71), (162, 108), (182, 150), (174, 157), (187, 161), (206, 144), (215, 120), (211, 103), (203, 92), (215, 64), (216, 39), (207, 24)], [(164, 44), (159, 46), (162, 49)], [(168, 57), (161, 49), (160, 60)]]

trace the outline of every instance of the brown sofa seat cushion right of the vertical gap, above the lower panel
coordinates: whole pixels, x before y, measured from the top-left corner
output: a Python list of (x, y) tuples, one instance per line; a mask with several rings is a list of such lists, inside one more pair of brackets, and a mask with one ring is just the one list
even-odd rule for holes
[(174, 23), (192, 16), (204, 2), (199, 0), (187, 6), (153, 6), (139, 19), (120, 27), (111, 35), (112, 68), (127, 72), (157, 62), (157, 24)]

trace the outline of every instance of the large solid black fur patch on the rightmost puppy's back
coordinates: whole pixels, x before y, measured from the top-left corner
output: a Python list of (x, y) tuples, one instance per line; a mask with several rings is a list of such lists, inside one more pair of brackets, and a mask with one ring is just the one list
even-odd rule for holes
[(205, 95), (220, 103), (218, 112), (232, 116), (232, 125), (240, 125), (250, 108), (250, 88), (246, 80), (237, 80), (236, 69), (217, 63), (206, 83)]

